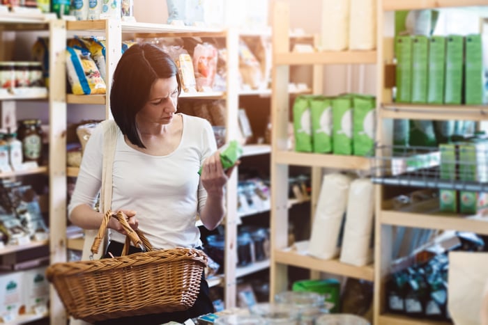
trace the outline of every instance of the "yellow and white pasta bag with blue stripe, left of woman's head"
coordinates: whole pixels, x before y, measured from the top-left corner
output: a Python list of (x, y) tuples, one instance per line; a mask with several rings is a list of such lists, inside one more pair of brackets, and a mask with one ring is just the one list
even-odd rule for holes
[(105, 94), (107, 86), (87, 49), (66, 47), (66, 70), (75, 95)]

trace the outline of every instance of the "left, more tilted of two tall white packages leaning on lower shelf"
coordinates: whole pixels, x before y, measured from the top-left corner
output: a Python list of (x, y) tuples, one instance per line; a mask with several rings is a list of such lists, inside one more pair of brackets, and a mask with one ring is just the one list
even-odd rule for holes
[(323, 176), (308, 247), (309, 255), (328, 260), (339, 254), (337, 241), (351, 181), (351, 177), (340, 173)]

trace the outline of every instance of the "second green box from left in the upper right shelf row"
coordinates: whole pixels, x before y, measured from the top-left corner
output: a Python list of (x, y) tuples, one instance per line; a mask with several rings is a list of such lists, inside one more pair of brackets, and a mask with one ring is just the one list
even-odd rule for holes
[(412, 98), (413, 103), (427, 102), (427, 57), (429, 39), (427, 36), (412, 37)]

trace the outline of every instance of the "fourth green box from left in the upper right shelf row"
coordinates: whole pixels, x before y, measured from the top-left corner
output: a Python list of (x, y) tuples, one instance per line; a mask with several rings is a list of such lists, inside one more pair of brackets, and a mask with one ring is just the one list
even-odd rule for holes
[(464, 37), (449, 35), (445, 45), (445, 104), (461, 104), (463, 87)]

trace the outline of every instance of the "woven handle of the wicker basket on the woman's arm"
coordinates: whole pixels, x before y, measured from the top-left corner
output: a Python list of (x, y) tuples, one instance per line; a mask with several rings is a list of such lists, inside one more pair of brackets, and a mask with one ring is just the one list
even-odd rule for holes
[(122, 212), (117, 212), (116, 214), (114, 214), (111, 210), (107, 210), (107, 212), (105, 212), (105, 215), (103, 216), (102, 223), (100, 224), (100, 228), (98, 229), (98, 233), (95, 239), (93, 239), (93, 244), (91, 245), (91, 253), (98, 253), (98, 249), (100, 248), (103, 237), (105, 235), (105, 230), (107, 230), (107, 225), (110, 218), (112, 217), (116, 218), (121, 223), (123, 229), (127, 233), (122, 255), (128, 254), (130, 241), (132, 241), (134, 246), (142, 248), (143, 251), (153, 250), (153, 246), (151, 246), (149, 241), (140, 230), (133, 230), (132, 228), (130, 228), (129, 223), (125, 219), (125, 216), (123, 216)]

